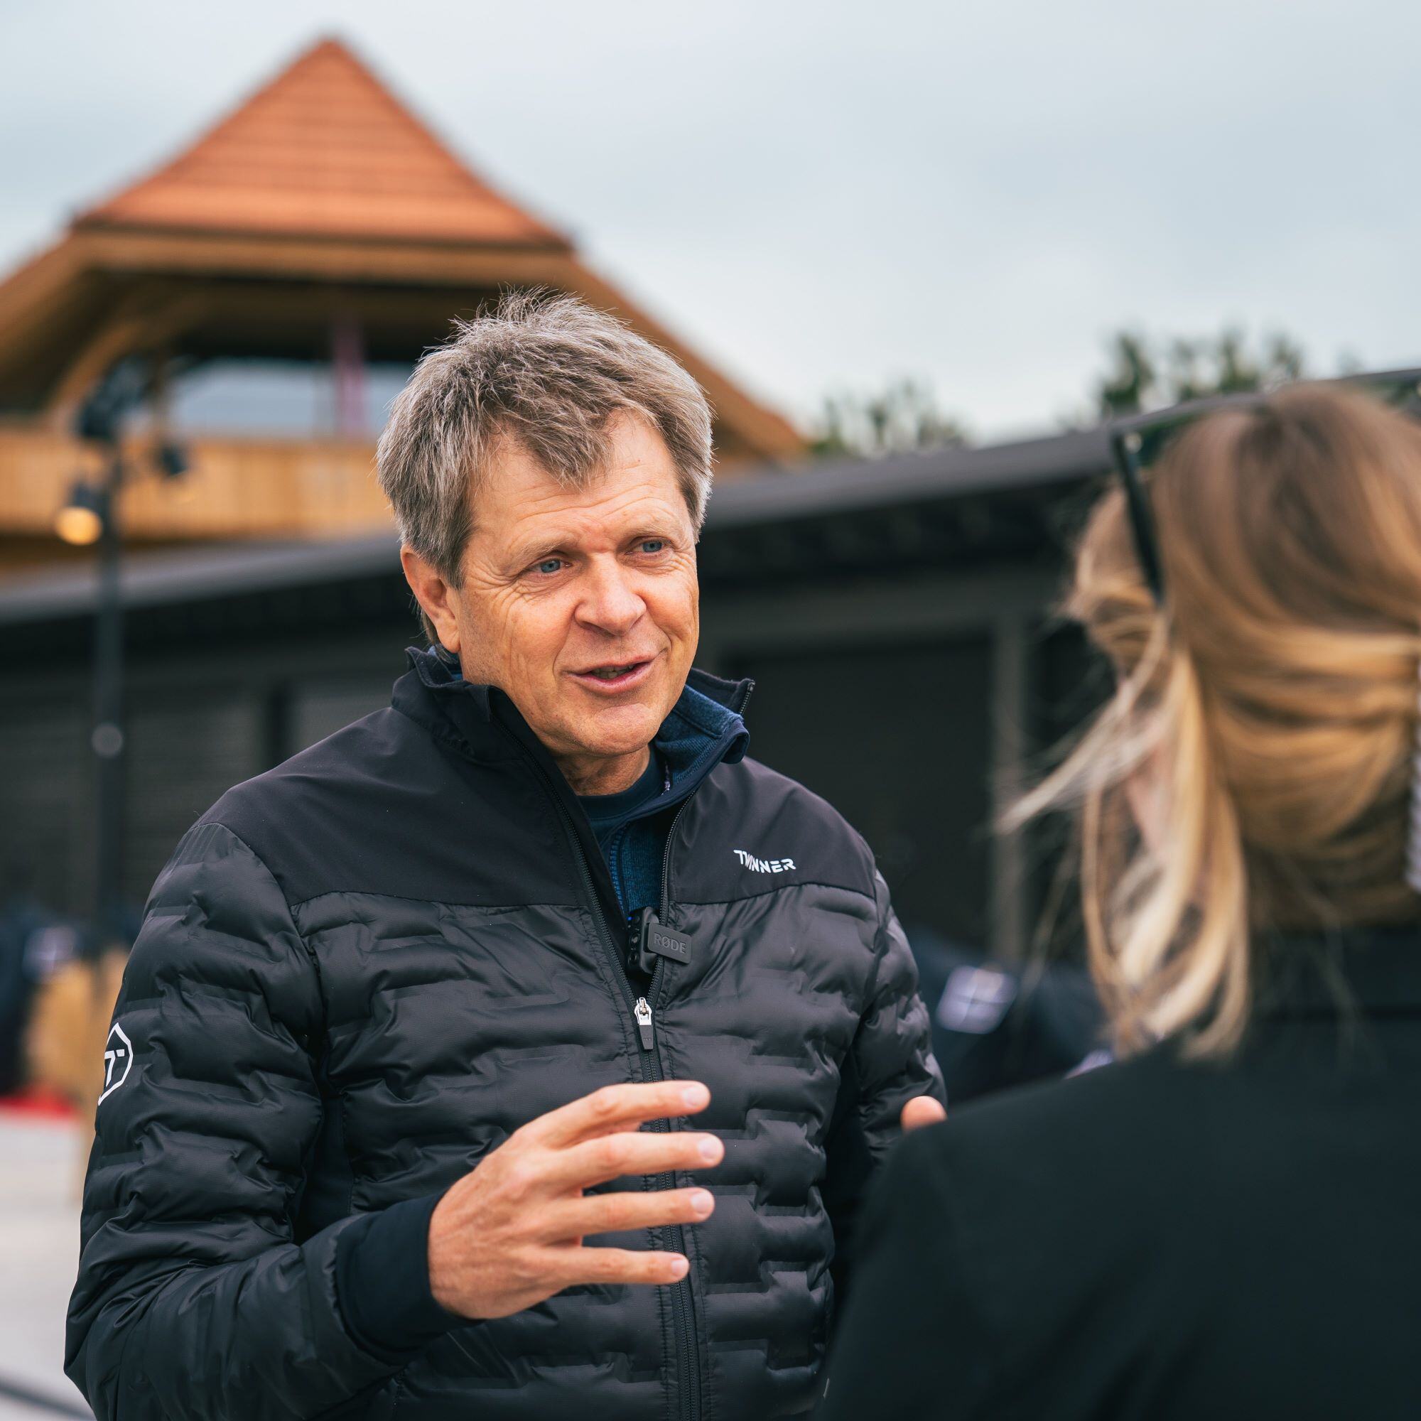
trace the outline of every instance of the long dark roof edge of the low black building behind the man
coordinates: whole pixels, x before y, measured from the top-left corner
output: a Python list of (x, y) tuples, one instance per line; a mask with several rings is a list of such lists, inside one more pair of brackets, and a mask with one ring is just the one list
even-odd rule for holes
[[(1107, 466), (1091, 429), (807, 469), (764, 468), (720, 486), (701, 543), (708, 590), (897, 576), (925, 566), (1053, 560), (1061, 509)], [(1067, 520), (1069, 522), (1069, 520)], [(92, 571), (0, 584), (0, 638), (75, 649), (97, 607)], [(290, 627), (411, 618), (398, 541), (203, 544), (129, 551), (122, 597), (135, 644), (266, 635)]]

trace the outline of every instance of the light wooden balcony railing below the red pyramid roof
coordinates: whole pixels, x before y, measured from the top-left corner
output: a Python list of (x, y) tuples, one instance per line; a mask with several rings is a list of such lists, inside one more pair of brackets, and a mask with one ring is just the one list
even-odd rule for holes
[[(126, 537), (335, 537), (391, 526), (372, 442), (199, 436), (185, 449), (189, 472), (163, 480), (148, 472), (151, 446), (134, 443)], [(64, 433), (0, 425), (0, 534), (51, 534), (74, 480), (97, 472), (94, 452)]]

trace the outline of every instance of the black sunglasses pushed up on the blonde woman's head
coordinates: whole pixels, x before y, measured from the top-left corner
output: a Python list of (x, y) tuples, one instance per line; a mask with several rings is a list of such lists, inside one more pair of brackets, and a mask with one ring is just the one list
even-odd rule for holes
[[(1351, 385), (1381, 395), (1388, 404), (1421, 414), (1421, 369), (1388, 369), (1370, 375), (1341, 375), (1336, 379), (1309, 381), (1319, 385)], [(1161, 450), (1181, 429), (1221, 409), (1260, 409), (1276, 389), (1239, 395), (1211, 395), (1182, 405), (1144, 415), (1127, 415), (1110, 422), (1110, 456), (1125, 490), (1130, 536), (1140, 570), (1158, 607), (1165, 605), (1164, 558), (1155, 529), (1154, 509), (1145, 473)]]

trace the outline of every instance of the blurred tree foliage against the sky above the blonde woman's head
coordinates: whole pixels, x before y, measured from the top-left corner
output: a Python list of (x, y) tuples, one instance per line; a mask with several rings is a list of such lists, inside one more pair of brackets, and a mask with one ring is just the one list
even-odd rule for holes
[(1303, 351), (1295, 340), (1279, 333), (1255, 345), (1233, 327), (1218, 335), (1169, 341), (1118, 331), (1108, 354), (1110, 365), (1094, 391), (1096, 408), (1107, 418), (1205, 395), (1266, 389), (1303, 374)]

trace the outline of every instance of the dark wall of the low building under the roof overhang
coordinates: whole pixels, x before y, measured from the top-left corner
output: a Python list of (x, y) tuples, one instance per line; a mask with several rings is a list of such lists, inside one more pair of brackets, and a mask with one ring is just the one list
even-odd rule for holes
[[(1093, 703), (1079, 639), (1043, 635), (1052, 567), (998, 564), (703, 588), (701, 664), (752, 675), (752, 753), (834, 803), (911, 928), (1019, 951), (1059, 858), (992, 837), (1003, 780)], [(131, 618), (124, 887), (138, 907), (227, 787), (388, 703), (418, 639), (398, 574), (165, 604)], [(0, 901), (92, 899), (88, 627), (27, 627), (0, 681)]]

